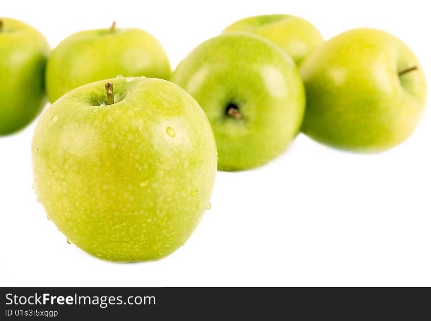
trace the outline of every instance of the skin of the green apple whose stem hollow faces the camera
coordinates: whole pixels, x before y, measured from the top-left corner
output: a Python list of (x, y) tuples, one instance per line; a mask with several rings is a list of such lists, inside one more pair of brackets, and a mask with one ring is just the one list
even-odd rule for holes
[[(304, 87), (292, 59), (268, 40), (229, 33), (197, 46), (172, 81), (203, 108), (216, 136), (218, 169), (257, 167), (286, 150), (304, 115)], [(241, 113), (226, 114), (230, 104)]]

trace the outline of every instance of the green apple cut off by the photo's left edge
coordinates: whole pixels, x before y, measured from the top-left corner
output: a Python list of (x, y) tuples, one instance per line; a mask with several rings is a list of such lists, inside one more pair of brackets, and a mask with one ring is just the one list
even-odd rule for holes
[(0, 135), (22, 129), (45, 105), (49, 45), (35, 28), (0, 17)]

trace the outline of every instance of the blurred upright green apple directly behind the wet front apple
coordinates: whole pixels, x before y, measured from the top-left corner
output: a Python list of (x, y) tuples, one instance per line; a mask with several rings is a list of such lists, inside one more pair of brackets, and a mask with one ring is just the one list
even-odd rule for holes
[(51, 102), (98, 80), (123, 76), (170, 77), (162, 45), (140, 29), (86, 30), (63, 40), (48, 59), (46, 83)]

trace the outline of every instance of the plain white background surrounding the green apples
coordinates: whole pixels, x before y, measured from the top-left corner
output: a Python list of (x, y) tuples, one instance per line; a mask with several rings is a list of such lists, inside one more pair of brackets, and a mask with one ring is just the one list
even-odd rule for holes
[[(326, 39), (355, 27), (389, 31), (431, 79), (427, 1), (14, 0), (2, 1), (0, 15), (33, 25), (51, 46), (116, 20), (152, 33), (175, 68), (228, 24), (266, 13), (305, 18)], [(384, 153), (341, 152), (300, 135), (266, 166), (219, 172), (213, 208), (186, 245), (134, 264), (87, 255), (47, 220), (31, 188), (33, 122), (0, 138), (0, 284), (431, 286), (430, 107), (414, 135)]]

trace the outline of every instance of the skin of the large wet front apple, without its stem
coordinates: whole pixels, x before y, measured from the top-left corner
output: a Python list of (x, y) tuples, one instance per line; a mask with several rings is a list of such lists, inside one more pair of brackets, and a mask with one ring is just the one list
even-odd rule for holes
[[(99, 107), (106, 82), (116, 103)], [(112, 261), (154, 260), (183, 245), (210, 202), (217, 167), (202, 109), (154, 78), (65, 94), (41, 116), (31, 150), (49, 219), (70, 242)]]

